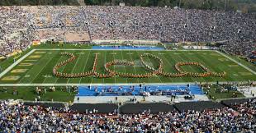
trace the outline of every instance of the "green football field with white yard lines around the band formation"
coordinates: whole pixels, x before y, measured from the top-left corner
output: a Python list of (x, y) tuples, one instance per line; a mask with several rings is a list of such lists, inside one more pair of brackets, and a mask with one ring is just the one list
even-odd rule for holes
[[(164, 62), (164, 71), (177, 72), (174, 65), (177, 62), (200, 62), (208, 67), (210, 71), (225, 71), (225, 77), (177, 77), (168, 78), (163, 76), (154, 76), (151, 78), (123, 78), (119, 76), (111, 78), (57, 78), (53, 75), (53, 67), (61, 61), (67, 60), (69, 57), (62, 56), (60, 53), (73, 53), (76, 59), (68, 63), (66, 66), (60, 67), (60, 72), (77, 73), (83, 71), (91, 71), (95, 54), (98, 54), (97, 72), (106, 74), (104, 64), (112, 60), (126, 60), (135, 62), (135, 66), (111, 66), (111, 70), (143, 74), (149, 72), (140, 62), (140, 55), (151, 53), (160, 57)], [(24, 56), (24, 55), (22, 55)], [(10, 61), (9, 61), (10, 62)], [(158, 62), (152, 58), (145, 58), (145, 62), (149, 66), (157, 66)], [(0, 62), (1, 63), (1, 62)], [(1, 64), (0, 64), (1, 65)], [(202, 72), (197, 66), (182, 66), (184, 71)], [(10, 71), (0, 78), (1, 84), (90, 84), (90, 83), (182, 83), (182, 82), (215, 82), (215, 81), (248, 81), (256, 80), (256, 76), (246, 70), (243, 66), (239, 66), (236, 62), (224, 57), (216, 51), (135, 51), (135, 50), (89, 50), (89, 49), (60, 49), (52, 50), (37, 49), (28, 55)]]

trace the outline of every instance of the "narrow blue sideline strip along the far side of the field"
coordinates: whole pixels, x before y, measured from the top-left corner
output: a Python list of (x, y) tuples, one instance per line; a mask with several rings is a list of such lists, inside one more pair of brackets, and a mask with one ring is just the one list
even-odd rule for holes
[(116, 50), (116, 49), (129, 49), (129, 50), (164, 50), (161, 47), (154, 47), (154, 46), (92, 46), (92, 49), (109, 49), (109, 50)]

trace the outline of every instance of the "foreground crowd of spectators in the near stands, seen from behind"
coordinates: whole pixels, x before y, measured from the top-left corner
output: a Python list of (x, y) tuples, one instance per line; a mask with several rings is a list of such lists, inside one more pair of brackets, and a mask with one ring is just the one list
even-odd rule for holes
[(0, 102), (0, 132), (252, 132), (256, 100), (231, 108), (152, 114), (96, 114)]

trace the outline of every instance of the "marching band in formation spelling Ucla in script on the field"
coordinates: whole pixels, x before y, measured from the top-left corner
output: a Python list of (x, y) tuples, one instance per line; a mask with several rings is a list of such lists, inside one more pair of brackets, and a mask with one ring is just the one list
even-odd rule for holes
[[(183, 77), (183, 76), (224, 77), (224, 76), (226, 76), (225, 71), (220, 72), (220, 73), (212, 72), (206, 66), (203, 66), (199, 62), (178, 62), (178, 63), (175, 64), (175, 69), (178, 71), (178, 73), (164, 72), (163, 71), (164, 62), (162, 61), (162, 59), (160, 57), (154, 56), (153, 54), (149, 54), (149, 53), (145, 53), (145, 54), (142, 54), (140, 56), (140, 61), (142, 62), (142, 64), (145, 66), (145, 68), (147, 68), (149, 71), (151, 71), (151, 72), (145, 73), (145, 74), (121, 73), (121, 72), (117, 72), (117, 71), (112, 71), (109, 68), (110, 66), (114, 66), (114, 65), (122, 65), (122, 66), (134, 66), (135, 65), (134, 62), (127, 62), (127, 61), (121, 61), (121, 60), (114, 60), (114, 61), (105, 63), (104, 68), (105, 68), (105, 71), (107, 71), (107, 74), (97, 73), (96, 72), (97, 58), (98, 58), (97, 54), (95, 54), (95, 58), (94, 58), (94, 62), (93, 62), (93, 66), (92, 66), (91, 71), (81, 72), (81, 73), (62, 73), (62, 72), (59, 72), (58, 69), (61, 66), (67, 65), (69, 62), (73, 62), (73, 60), (75, 60), (76, 57), (73, 55), (73, 53), (61, 53), (61, 55), (69, 56), (69, 59), (67, 59), (63, 62), (59, 62), (54, 66), (53, 74), (55, 76), (61, 77), (61, 78), (79, 78), (79, 77), (86, 77), (86, 76), (94, 76), (94, 77), (97, 77), (97, 78), (110, 78), (110, 77), (113, 77), (113, 76), (121, 76), (121, 77), (126, 77), (126, 78), (149, 78), (149, 77), (153, 77), (153, 76), (165, 76), (165, 77)], [(151, 58), (154, 58), (155, 60), (157, 60), (159, 62), (158, 67), (154, 68), (152, 66), (147, 65), (145, 63), (144, 59), (143, 59), (144, 57), (151, 57)], [(186, 66), (186, 65), (198, 66), (204, 72), (203, 73), (196, 73), (196, 72), (183, 71), (180, 66)]]

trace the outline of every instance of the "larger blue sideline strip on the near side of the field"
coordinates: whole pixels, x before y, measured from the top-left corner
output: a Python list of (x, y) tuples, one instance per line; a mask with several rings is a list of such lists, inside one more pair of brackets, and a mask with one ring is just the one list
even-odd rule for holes
[(97, 85), (79, 86), (77, 96), (118, 96), (118, 95), (142, 95), (149, 92), (151, 95), (159, 94), (203, 94), (198, 85)]

